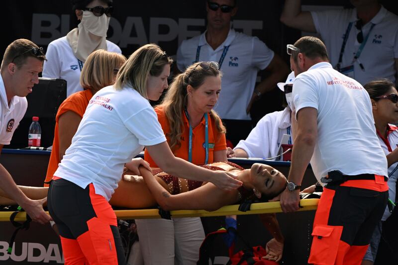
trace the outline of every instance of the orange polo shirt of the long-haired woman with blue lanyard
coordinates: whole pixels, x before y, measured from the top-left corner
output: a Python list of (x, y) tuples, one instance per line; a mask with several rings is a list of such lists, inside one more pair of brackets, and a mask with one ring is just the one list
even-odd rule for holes
[[(163, 111), (163, 108), (161, 107), (156, 107), (155, 108), (156, 113), (158, 114), (158, 120), (160, 125), (162, 125), (163, 132), (166, 135), (167, 142), (169, 142), (170, 138), (168, 136), (170, 132), (170, 125), (169, 125), (169, 120), (166, 117), (165, 112)], [(188, 147), (189, 147), (189, 139), (190, 139), (190, 125), (188, 122), (188, 119), (184, 113), (184, 110), (181, 110), (183, 112), (183, 134), (181, 135), (181, 146), (179, 149), (174, 151), (174, 155), (176, 157), (182, 158), (184, 160), (188, 161)], [(226, 149), (226, 142), (225, 142), (225, 134), (219, 133), (217, 131), (217, 127), (215, 125), (214, 118), (207, 113), (208, 116), (208, 162), (207, 163), (213, 163), (214, 162), (214, 152), (215, 151), (220, 151), (220, 150), (225, 150)], [(192, 163), (195, 165), (202, 165), (204, 164), (204, 159), (206, 157), (206, 151), (204, 148), (204, 129), (205, 129), (205, 120), (204, 117), (202, 118), (201, 122), (193, 128), (192, 131)], [(158, 168), (156, 163), (152, 160), (151, 156), (149, 155), (148, 151), (145, 150), (145, 155), (144, 155), (145, 161), (147, 161), (151, 167), (153, 168)]]

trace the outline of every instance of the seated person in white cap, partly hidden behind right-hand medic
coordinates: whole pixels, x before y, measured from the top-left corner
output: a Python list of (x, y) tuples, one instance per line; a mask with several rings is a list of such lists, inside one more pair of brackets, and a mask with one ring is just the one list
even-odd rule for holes
[[(292, 122), (290, 108), (292, 102), (292, 87), (295, 73), (289, 74), (286, 83), (278, 83), (278, 88), (285, 92), (285, 109), (265, 115), (250, 132), (246, 140), (240, 140), (232, 150), (227, 148), (227, 157), (271, 158), (278, 155), (279, 144), (284, 134), (290, 135), (289, 144), (293, 144)], [(281, 157), (275, 160), (281, 160)]]

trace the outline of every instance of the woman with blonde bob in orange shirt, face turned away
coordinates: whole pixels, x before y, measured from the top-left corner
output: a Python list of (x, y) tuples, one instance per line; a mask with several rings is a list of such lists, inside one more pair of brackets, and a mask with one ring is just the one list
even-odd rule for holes
[(85, 90), (68, 96), (55, 117), (54, 141), (44, 180), (45, 187), (49, 186), (48, 182), (71, 145), (89, 100), (98, 90), (114, 83), (117, 71), (125, 61), (123, 55), (105, 50), (97, 50), (87, 58), (80, 76), (80, 84)]

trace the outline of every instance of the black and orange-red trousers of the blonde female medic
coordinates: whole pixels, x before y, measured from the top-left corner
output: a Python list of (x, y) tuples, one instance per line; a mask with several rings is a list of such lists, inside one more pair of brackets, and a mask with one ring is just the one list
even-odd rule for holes
[(48, 210), (57, 224), (65, 265), (125, 265), (116, 215), (106, 199), (59, 178), (48, 190)]

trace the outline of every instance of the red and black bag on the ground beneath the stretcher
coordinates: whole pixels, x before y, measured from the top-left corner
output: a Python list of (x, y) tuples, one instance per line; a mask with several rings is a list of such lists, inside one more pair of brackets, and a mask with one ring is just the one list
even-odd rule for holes
[[(234, 253), (235, 244), (232, 244), (228, 249), (222, 241), (222, 235), (228, 233), (228, 231), (235, 233), (237, 238), (239, 238), (247, 248), (238, 253)], [(223, 248), (220, 248), (221, 244)], [(217, 250), (214, 248), (215, 245), (217, 245)], [(276, 262), (263, 259), (266, 255), (267, 252), (262, 246), (249, 247), (234, 228), (229, 227), (228, 230), (221, 228), (220, 230), (206, 235), (206, 238), (200, 246), (199, 261), (197, 265), (218, 265), (219, 263), (217, 262), (216, 257), (219, 258), (220, 256), (229, 257), (229, 261), (224, 263), (226, 265), (278, 265)]]

